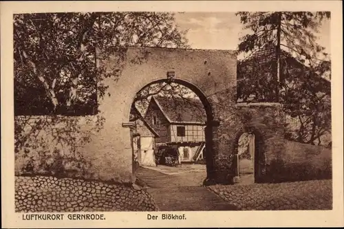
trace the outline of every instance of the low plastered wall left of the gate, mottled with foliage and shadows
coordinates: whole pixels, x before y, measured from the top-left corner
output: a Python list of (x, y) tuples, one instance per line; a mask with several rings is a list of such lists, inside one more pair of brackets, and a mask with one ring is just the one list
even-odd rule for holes
[(100, 179), (85, 143), (102, 128), (99, 116), (16, 116), (16, 175), (67, 175)]

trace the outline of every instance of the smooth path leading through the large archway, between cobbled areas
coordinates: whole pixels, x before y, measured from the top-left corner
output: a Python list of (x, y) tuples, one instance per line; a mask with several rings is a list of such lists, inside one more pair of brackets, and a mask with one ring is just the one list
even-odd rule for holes
[(237, 210), (204, 186), (204, 173), (166, 175), (139, 168), (138, 179), (147, 185), (159, 210)]

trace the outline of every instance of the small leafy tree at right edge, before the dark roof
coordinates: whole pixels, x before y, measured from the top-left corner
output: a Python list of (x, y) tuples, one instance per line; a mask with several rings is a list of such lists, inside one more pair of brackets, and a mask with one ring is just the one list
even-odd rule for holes
[(314, 72), (301, 72), (286, 83), (288, 88), (281, 93), (284, 108), (297, 120), (297, 125), (290, 123), (291, 130), (286, 133), (291, 140), (322, 144), (321, 137), (331, 133), (330, 81), (319, 78), (319, 74), (326, 75), (329, 71), (328, 63), (321, 63)]

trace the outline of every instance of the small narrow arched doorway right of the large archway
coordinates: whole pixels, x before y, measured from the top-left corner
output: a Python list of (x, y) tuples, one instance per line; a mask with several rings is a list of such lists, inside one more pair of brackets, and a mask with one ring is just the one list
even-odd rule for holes
[(252, 132), (242, 133), (237, 140), (237, 150), (235, 152), (237, 161), (236, 182), (239, 184), (254, 184), (257, 182), (257, 146), (256, 135)]

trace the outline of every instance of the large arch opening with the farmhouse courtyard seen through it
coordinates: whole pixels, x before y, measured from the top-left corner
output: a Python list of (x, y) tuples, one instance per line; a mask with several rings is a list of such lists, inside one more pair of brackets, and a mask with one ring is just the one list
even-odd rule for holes
[(129, 113), (133, 175), (138, 177), (142, 168), (171, 174), (189, 171), (189, 176), (198, 171), (203, 184), (213, 168), (212, 121), (208, 99), (186, 80), (154, 80), (142, 87)]

